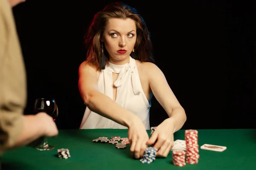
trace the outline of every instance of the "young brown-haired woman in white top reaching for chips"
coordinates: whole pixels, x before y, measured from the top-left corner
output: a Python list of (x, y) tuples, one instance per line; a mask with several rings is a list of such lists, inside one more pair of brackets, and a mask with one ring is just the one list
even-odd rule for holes
[[(147, 144), (166, 157), (173, 133), (186, 114), (162, 71), (153, 63), (151, 40), (135, 8), (113, 3), (99, 11), (86, 36), (87, 60), (79, 67), (79, 91), (87, 106), (80, 129), (128, 128), (131, 153), (138, 159)], [(152, 95), (169, 118), (148, 139)]]

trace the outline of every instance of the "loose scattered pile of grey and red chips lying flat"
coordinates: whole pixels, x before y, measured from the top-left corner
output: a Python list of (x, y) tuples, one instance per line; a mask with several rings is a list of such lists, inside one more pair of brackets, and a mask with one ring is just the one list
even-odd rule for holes
[[(121, 140), (121, 143), (119, 141)], [(111, 137), (111, 139), (108, 139), (108, 137), (99, 137), (97, 139), (93, 139), (93, 142), (105, 142), (109, 144), (116, 144), (117, 149), (125, 149), (126, 144), (130, 144), (128, 138), (120, 138), (118, 137)]]

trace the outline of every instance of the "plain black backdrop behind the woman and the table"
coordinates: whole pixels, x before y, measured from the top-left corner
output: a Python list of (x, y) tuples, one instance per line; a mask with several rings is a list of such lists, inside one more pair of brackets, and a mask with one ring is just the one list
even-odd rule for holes
[[(83, 36), (94, 14), (111, 2), (27, 0), (13, 9), (27, 71), (25, 114), (32, 114), (36, 98), (52, 97), (58, 128), (79, 128), (86, 107), (78, 89)], [(186, 111), (183, 129), (256, 127), (255, 4), (124, 2), (147, 23), (157, 65)], [(153, 98), (151, 126), (166, 118)]]

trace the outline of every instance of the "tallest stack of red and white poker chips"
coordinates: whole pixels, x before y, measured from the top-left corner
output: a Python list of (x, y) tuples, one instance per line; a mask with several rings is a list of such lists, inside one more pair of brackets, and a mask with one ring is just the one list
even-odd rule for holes
[(197, 164), (199, 161), (198, 131), (185, 130), (186, 163)]

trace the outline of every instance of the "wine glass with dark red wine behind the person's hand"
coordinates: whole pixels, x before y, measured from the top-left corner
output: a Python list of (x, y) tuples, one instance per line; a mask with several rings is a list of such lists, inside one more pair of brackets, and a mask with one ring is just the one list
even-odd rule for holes
[[(47, 113), (49, 116), (52, 116), (53, 121), (55, 121), (58, 116), (58, 107), (55, 99), (36, 99), (34, 105), (34, 113), (36, 114), (39, 112)], [(54, 148), (55, 146), (48, 144), (47, 137), (44, 138), (44, 144), (37, 147), (38, 150), (52, 150)]]

